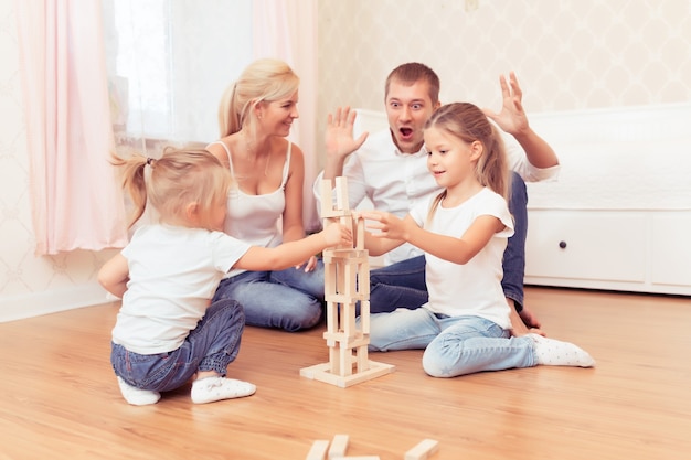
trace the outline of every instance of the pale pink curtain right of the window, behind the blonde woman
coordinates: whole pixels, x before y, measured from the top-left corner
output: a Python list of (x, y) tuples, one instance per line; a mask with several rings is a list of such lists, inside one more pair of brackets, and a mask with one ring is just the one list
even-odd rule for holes
[[(287, 62), (300, 77), (300, 119), (291, 132), (305, 152), (305, 226), (320, 226), (312, 182), (317, 176), (317, 0), (254, 0), (254, 56)], [(297, 128), (297, 129), (296, 129)]]

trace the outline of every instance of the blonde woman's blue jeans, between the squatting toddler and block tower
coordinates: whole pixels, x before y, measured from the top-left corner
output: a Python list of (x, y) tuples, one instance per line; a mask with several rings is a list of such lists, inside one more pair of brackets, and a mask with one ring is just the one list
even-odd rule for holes
[(304, 268), (244, 271), (221, 280), (214, 300), (233, 299), (245, 310), (248, 325), (299, 331), (316, 325), (323, 312), (323, 261)]

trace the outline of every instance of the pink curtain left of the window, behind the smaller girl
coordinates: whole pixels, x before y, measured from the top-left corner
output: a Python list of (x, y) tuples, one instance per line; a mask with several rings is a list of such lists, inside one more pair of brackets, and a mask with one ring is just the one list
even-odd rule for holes
[(127, 244), (99, 1), (17, 0), (36, 255)]

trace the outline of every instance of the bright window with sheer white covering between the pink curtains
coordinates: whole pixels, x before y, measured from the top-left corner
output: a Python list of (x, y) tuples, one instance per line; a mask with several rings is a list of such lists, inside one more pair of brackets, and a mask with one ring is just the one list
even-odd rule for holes
[(219, 137), (225, 87), (252, 60), (251, 0), (103, 0), (118, 138)]

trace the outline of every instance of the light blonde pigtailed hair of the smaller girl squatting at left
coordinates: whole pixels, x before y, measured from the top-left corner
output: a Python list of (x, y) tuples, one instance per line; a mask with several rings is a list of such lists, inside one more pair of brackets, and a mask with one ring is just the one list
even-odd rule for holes
[(111, 163), (123, 168), (123, 188), (135, 206), (129, 227), (141, 217), (147, 203), (158, 212), (161, 222), (180, 223), (187, 221), (187, 205), (194, 202), (202, 226), (213, 229), (212, 206), (226, 200), (232, 181), (227, 168), (202, 149), (169, 147), (159, 159), (140, 153), (126, 159), (113, 154)]

